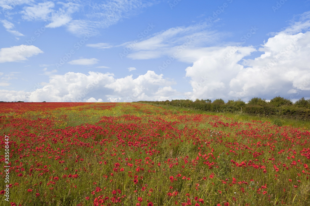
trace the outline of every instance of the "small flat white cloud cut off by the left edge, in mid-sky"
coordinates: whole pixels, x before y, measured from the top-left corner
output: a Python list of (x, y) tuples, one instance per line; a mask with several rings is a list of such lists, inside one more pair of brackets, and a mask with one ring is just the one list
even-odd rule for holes
[(43, 53), (41, 49), (33, 45), (19, 45), (9, 48), (0, 49), (0, 63), (12, 62), (12, 61), (25, 61), (28, 57), (32, 57)]

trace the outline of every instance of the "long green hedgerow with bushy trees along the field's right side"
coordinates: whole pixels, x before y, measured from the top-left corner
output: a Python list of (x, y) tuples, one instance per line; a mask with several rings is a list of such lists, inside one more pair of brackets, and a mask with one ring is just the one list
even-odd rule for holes
[(265, 116), (283, 116), (294, 119), (310, 120), (310, 99), (304, 97), (293, 103), (290, 99), (277, 96), (266, 101), (259, 97), (250, 99), (245, 103), (241, 99), (228, 100), (225, 103), (223, 99), (177, 99), (166, 101), (139, 101), (139, 103), (152, 103), (157, 105), (171, 105), (177, 107), (192, 108), (202, 111), (213, 112), (242, 112), (250, 115)]

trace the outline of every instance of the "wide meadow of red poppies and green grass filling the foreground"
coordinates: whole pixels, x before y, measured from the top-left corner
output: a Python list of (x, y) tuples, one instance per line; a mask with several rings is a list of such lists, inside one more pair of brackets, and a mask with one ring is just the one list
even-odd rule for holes
[(0, 205), (310, 205), (305, 128), (140, 103), (0, 103), (0, 137)]

